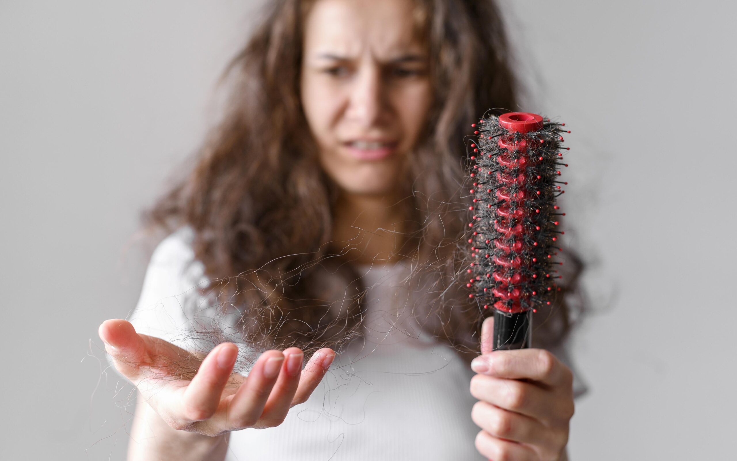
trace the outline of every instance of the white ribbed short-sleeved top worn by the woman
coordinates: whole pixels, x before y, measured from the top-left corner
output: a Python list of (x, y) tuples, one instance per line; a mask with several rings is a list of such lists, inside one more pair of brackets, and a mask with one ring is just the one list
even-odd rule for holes
[[(191, 239), (191, 230), (183, 228), (159, 244), (129, 320), (139, 333), (209, 350), (214, 344), (194, 344), (187, 332), (214, 327), (208, 320), (214, 308), (203, 302), (195, 321), (182, 308), (185, 300), (198, 296), (192, 288), (206, 282)], [(470, 416), (476, 401), (469, 393), (474, 372), (453, 349), (407, 321), (401, 306), (408, 294), (397, 283), (406, 270), (360, 268), (363, 285), (369, 287), (366, 336), (335, 357), (309, 400), (293, 407), (282, 425), (231, 433), (226, 460), (485, 459), (475, 449), (480, 429)], [(218, 325), (224, 321), (217, 319)], [(553, 351), (567, 361), (562, 352)], [(574, 390), (576, 395), (584, 392), (577, 377)]]

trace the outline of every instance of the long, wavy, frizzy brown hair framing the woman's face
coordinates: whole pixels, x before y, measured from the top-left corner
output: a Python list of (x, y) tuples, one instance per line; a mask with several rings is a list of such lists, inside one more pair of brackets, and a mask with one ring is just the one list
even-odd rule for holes
[[(318, 164), (300, 103), (312, 3), (266, 2), (224, 74), (231, 86), (221, 121), (192, 170), (144, 213), (148, 226), (192, 228), (195, 257), (210, 280), (204, 290), (236, 310), (240, 334), (262, 349), (339, 350), (361, 334), (364, 287), (344, 243), (332, 238), (338, 188)], [(489, 312), (469, 301), (456, 277), (467, 254), (464, 136), (489, 108), (517, 109), (518, 84), (494, 1), (415, 3), (434, 103), (410, 153), (409, 180), (398, 185), (411, 226), (397, 254), (411, 267), (406, 282), (422, 293), (413, 305), (422, 330), (468, 359), (478, 354), (477, 332)], [(581, 306), (581, 263), (570, 252), (567, 267), (563, 296), (536, 321), (534, 337), (545, 346), (565, 337), (572, 305)]]

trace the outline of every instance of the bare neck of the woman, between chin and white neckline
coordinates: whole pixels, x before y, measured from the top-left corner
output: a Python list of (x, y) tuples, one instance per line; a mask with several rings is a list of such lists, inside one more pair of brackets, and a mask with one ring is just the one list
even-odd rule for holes
[(335, 205), (333, 240), (341, 253), (358, 264), (395, 263), (405, 241), (407, 217), (390, 195), (342, 193)]

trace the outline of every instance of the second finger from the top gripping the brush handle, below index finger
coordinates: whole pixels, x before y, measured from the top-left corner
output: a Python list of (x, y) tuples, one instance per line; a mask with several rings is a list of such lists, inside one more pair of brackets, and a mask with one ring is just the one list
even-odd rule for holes
[(537, 420), (548, 419), (562, 411), (556, 408), (563, 399), (553, 398), (547, 389), (514, 379), (498, 379), (486, 375), (471, 378), (471, 395), (511, 412)]

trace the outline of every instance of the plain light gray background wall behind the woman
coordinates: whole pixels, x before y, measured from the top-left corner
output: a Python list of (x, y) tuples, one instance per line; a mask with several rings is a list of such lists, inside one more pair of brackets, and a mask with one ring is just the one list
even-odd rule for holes
[[(251, 1), (0, 1), (2, 457), (122, 459), (97, 325), (136, 302), (139, 210), (217, 114)], [(734, 431), (737, 7), (511, 1), (523, 109), (572, 134), (594, 305), (573, 460), (723, 460)]]

